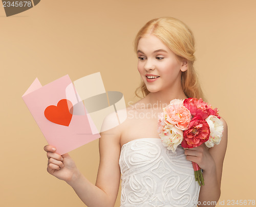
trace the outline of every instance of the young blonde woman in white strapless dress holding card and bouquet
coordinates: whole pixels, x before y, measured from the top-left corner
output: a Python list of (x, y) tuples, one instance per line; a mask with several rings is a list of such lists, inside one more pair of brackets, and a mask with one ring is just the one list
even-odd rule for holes
[[(212, 148), (179, 145), (172, 152), (157, 132), (158, 114), (170, 100), (204, 99), (193, 67), (194, 47), (193, 33), (182, 21), (172, 17), (148, 21), (135, 39), (144, 97), (125, 109), (123, 123), (100, 133), (96, 184), (79, 172), (68, 153), (60, 156), (50, 145), (44, 147), (47, 171), (65, 180), (88, 206), (114, 206), (121, 174), (120, 206), (215, 206), (227, 147), (224, 119), (222, 140)], [(110, 115), (105, 123), (111, 120)], [(204, 186), (196, 182), (191, 161), (203, 169)]]

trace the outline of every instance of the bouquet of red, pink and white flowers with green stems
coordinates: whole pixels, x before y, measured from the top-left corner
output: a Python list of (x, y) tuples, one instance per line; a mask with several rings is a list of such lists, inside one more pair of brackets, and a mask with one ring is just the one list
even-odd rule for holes
[[(158, 133), (167, 149), (176, 150), (181, 144), (193, 148), (205, 143), (207, 147), (219, 144), (223, 123), (218, 109), (212, 109), (202, 98), (173, 99), (158, 117)], [(204, 185), (201, 168), (192, 162), (198, 184)]]

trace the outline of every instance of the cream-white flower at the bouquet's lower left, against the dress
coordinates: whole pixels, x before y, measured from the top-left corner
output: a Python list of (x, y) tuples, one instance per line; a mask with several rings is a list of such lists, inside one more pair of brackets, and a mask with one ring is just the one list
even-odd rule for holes
[(169, 127), (168, 125), (165, 125), (159, 135), (163, 145), (173, 152), (175, 152), (178, 145), (183, 140), (183, 131), (179, 130), (175, 126)]

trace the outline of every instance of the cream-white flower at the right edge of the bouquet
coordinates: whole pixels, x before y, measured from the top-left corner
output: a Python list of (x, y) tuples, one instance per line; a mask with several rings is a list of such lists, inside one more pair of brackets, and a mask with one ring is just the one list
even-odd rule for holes
[(207, 147), (213, 147), (215, 144), (220, 144), (222, 133), (224, 131), (222, 121), (213, 115), (209, 115), (205, 121), (208, 123), (210, 128), (209, 140), (205, 142)]

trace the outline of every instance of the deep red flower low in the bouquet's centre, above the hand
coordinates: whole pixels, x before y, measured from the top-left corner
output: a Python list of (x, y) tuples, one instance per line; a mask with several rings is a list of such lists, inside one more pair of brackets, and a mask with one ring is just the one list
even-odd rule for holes
[(193, 148), (200, 146), (209, 139), (210, 128), (208, 123), (199, 117), (194, 117), (188, 126), (188, 130), (183, 132), (183, 141), (181, 146), (184, 148)]

